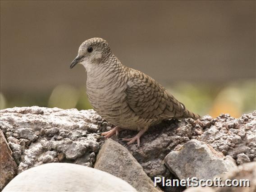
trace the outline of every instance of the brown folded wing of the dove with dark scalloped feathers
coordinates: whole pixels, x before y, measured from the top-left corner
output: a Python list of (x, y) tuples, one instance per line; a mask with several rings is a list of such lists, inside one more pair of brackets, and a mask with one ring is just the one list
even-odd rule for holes
[(129, 107), (144, 118), (178, 119), (186, 110), (158, 82), (135, 69), (129, 73), (125, 93)]

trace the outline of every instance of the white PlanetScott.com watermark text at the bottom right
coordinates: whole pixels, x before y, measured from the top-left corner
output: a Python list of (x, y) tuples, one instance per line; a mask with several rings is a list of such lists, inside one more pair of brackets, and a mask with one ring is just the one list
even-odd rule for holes
[(165, 177), (155, 177), (155, 187), (157, 183), (161, 183), (163, 187), (250, 187), (249, 179), (198, 179), (196, 177), (187, 179), (165, 179)]

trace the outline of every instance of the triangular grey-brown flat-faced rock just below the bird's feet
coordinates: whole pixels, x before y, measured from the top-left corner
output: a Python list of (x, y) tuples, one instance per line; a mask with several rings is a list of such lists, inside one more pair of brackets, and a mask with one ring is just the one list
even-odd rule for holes
[(102, 145), (94, 168), (108, 172), (130, 183), (139, 192), (159, 192), (130, 152), (118, 142), (108, 139)]

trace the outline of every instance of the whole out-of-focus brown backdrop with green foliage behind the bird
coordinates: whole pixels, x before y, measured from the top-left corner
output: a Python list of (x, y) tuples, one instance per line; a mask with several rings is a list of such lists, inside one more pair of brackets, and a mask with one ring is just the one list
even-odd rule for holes
[(0, 108), (90, 109), (69, 69), (91, 37), (155, 78), (188, 109), (256, 109), (256, 1), (0, 1)]

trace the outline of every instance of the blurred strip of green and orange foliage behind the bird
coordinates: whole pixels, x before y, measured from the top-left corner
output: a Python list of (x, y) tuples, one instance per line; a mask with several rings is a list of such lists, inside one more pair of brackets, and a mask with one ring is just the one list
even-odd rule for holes
[[(200, 115), (212, 117), (220, 113), (229, 113), (239, 117), (242, 113), (256, 110), (255, 79), (241, 80), (227, 84), (179, 82), (166, 89), (181, 101), (189, 110)], [(0, 108), (14, 106), (58, 107), (62, 109), (92, 109), (85, 87), (59, 85), (50, 92), (5, 94), (0, 93)]]

